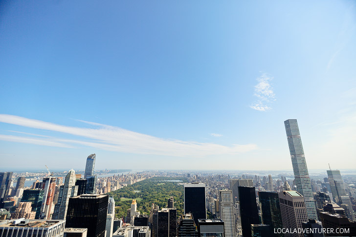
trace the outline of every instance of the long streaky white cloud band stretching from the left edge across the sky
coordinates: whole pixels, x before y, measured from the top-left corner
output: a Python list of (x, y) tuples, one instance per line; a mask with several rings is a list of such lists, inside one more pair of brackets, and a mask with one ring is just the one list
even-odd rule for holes
[(217, 154), (238, 154), (258, 149), (256, 144), (233, 144), (231, 146), (223, 146), (214, 143), (163, 139), (127, 129), (87, 121), (82, 122), (96, 126), (97, 128), (93, 129), (63, 126), (9, 114), (0, 114), (0, 122), (78, 136), (78, 139), (75, 140), (55, 137), (43, 137), (39, 139), (9, 135), (0, 136), (0, 140), (32, 143), (43, 146), (87, 146), (107, 151), (119, 151), (135, 154), (196, 157)]

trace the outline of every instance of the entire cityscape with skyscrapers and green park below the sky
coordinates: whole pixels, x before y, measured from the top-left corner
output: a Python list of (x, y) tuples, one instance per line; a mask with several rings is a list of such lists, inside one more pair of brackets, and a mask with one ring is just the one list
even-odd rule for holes
[(0, 172), (0, 237), (356, 236), (356, 174), (311, 175), (284, 124), (292, 172)]

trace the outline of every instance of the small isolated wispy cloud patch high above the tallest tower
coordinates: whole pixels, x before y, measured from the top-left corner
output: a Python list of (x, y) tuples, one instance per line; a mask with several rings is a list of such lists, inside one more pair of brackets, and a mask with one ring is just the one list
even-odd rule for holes
[(273, 77), (267, 73), (264, 73), (256, 80), (258, 84), (255, 86), (255, 93), (253, 95), (257, 97), (257, 99), (254, 103), (252, 103), (252, 105), (250, 105), (250, 108), (256, 109), (258, 111), (267, 111), (271, 109), (269, 105), (275, 101), (276, 97), (271, 86)]

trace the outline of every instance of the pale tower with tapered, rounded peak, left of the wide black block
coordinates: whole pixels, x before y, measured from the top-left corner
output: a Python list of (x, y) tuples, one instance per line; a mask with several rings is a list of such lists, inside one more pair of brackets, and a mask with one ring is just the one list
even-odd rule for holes
[(52, 219), (66, 219), (69, 197), (74, 197), (78, 194), (78, 186), (75, 185), (75, 180), (75, 171), (70, 170), (66, 176), (66, 181), (64, 185), (60, 187), (58, 202), (54, 206), (54, 213), (52, 215)]

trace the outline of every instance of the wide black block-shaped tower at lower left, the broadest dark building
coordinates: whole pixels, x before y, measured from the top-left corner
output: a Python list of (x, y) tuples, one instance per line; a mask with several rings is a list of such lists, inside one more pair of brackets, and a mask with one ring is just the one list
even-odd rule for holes
[(69, 198), (66, 228), (88, 228), (88, 236), (105, 237), (108, 195), (84, 194)]

